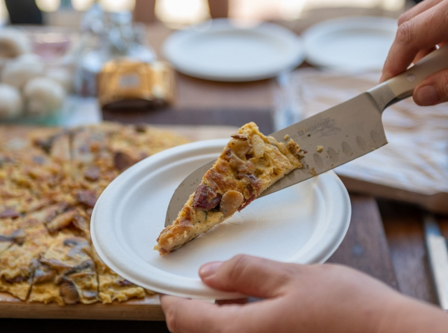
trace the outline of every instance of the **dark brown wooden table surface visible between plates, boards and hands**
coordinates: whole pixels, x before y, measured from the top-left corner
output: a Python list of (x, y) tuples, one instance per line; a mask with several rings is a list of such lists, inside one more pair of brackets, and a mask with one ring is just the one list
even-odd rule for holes
[[(169, 30), (148, 28), (152, 45)], [(171, 107), (147, 111), (104, 110), (107, 120), (201, 125), (233, 125), (254, 120), (266, 133), (272, 131), (272, 100), (276, 81), (215, 83), (177, 74), (177, 99)], [(411, 297), (436, 303), (431, 283), (422, 228), (422, 211), (416, 206), (350, 193), (352, 222), (343, 244), (329, 262), (352, 266), (384, 281)], [(439, 217), (448, 237), (448, 217)], [(138, 321), (42, 321), (0, 320), (2, 331), (10, 332), (168, 332), (163, 322)]]

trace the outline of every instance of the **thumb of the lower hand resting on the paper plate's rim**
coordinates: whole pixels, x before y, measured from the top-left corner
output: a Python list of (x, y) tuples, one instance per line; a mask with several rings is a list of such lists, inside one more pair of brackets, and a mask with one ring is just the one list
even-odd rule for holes
[(205, 264), (199, 269), (199, 275), (214, 289), (271, 298), (283, 294), (300, 268), (295, 264), (237, 255), (228, 261)]

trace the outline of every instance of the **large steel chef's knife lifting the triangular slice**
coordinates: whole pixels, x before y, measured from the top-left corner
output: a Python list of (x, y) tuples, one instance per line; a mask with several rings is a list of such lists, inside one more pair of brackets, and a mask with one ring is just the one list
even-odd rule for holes
[[(402, 74), (369, 91), (315, 116), (281, 129), (271, 136), (281, 141), (286, 135), (307, 151), (303, 169), (296, 169), (259, 197), (303, 182), (387, 144), (381, 116), (386, 107), (412, 95), (427, 76), (448, 68), (448, 44), (422, 58)], [(323, 146), (323, 152), (316, 151)], [(174, 191), (167, 209), (165, 226), (176, 219), (188, 197), (196, 191), (205, 172), (214, 161), (205, 164), (183, 180)]]

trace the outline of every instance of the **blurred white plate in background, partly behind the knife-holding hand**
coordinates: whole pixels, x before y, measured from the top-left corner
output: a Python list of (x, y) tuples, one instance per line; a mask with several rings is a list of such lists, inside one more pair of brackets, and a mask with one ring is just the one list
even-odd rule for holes
[(303, 33), (307, 62), (340, 70), (382, 69), (397, 21), (386, 17), (343, 17)]

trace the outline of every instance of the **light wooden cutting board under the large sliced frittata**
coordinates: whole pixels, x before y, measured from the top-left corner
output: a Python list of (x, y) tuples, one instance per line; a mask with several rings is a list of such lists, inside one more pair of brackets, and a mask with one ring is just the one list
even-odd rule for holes
[[(158, 127), (181, 133), (192, 141), (229, 138), (238, 130), (231, 126), (164, 125)], [(11, 136), (14, 136), (14, 133), (21, 136), (24, 131), (27, 131), (26, 127), (15, 127), (10, 133)], [(43, 129), (43, 131), (52, 131), (52, 129)], [(24, 302), (5, 292), (0, 292), (0, 318), (165, 320), (157, 295), (147, 295), (145, 299), (131, 299), (123, 303), (59, 306), (57, 304)]]

